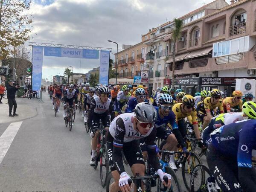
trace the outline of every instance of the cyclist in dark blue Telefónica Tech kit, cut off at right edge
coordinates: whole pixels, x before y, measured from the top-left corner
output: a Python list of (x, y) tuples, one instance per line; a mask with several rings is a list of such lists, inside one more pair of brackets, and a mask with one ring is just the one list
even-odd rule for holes
[[(255, 113), (253, 115), (256, 117)], [(207, 149), (207, 163), (221, 190), (254, 192), (256, 172), (252, 166), (252, 151), (256, 150), (256, 120), (221, 126), (210, 136), (212, 143)]]

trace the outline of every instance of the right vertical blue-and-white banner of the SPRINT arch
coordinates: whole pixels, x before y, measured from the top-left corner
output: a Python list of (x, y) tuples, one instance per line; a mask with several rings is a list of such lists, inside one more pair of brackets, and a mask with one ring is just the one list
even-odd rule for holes
[(109, 69), (110, 51), (100, 51), (99, 63), (99, 83), (108, 84), (108, 69)]

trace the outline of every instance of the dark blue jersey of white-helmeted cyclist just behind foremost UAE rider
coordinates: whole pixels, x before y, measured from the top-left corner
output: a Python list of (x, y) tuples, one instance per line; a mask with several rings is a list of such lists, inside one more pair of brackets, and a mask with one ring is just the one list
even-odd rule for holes
[(178, 125), (175, 121), (175, 114), (170, 111), (168, 116), (164, 116), (163, 119), (161, 119), (159, 114), (159, 107), (154, 107), (157, 110), (157, 120), (155, 122), (156, 128), (158, 127), (166, 127), (167, 123), (169, 122), (172, 126), (172, 129), (177, 129)]

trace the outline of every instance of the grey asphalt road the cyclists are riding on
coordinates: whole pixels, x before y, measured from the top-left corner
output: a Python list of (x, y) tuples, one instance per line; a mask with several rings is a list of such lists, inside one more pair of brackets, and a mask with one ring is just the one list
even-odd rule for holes
[[(1, 191), (105, 191), (100, 184), (99, 167), (94, 170), (89, 165), (91, 138), (83, 118), (76, 116), (69, 131), (64, 125), (62, 104), (55, 117), (48, 94), (43, 96), (44, 102), (21, 101), (26, 107), (36, 108), (34, 116), (24, 120), (13, 117), (13, 122), (21, 125), (0, 163)], [(26, 111), (19, 109), (19, 113)], [(10, 122), (0, 124), (0, 136), (9, 126)], [(183, 186), (181, 169), (177, 175)]]

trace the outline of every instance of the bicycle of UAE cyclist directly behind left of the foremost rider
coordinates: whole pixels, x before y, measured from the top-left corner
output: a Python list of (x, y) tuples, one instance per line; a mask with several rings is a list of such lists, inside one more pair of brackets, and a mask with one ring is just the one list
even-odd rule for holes
[(98, 137), (98, 144), (96, 148), (96, 156), (94, 157), (95, 166), (93, 166), (93, 168), (97, 169), (97, 166), (99, 163), (100, 181), (101, 181), (102, 187), (105, 187), (108, 172), (109, 172), (108, 149), (106, 145), (106, 132), (108, 130), (105, 129), (100, 119), (99, 128), (95, 129), (94, 131), (99, 131), (99, 137)]

